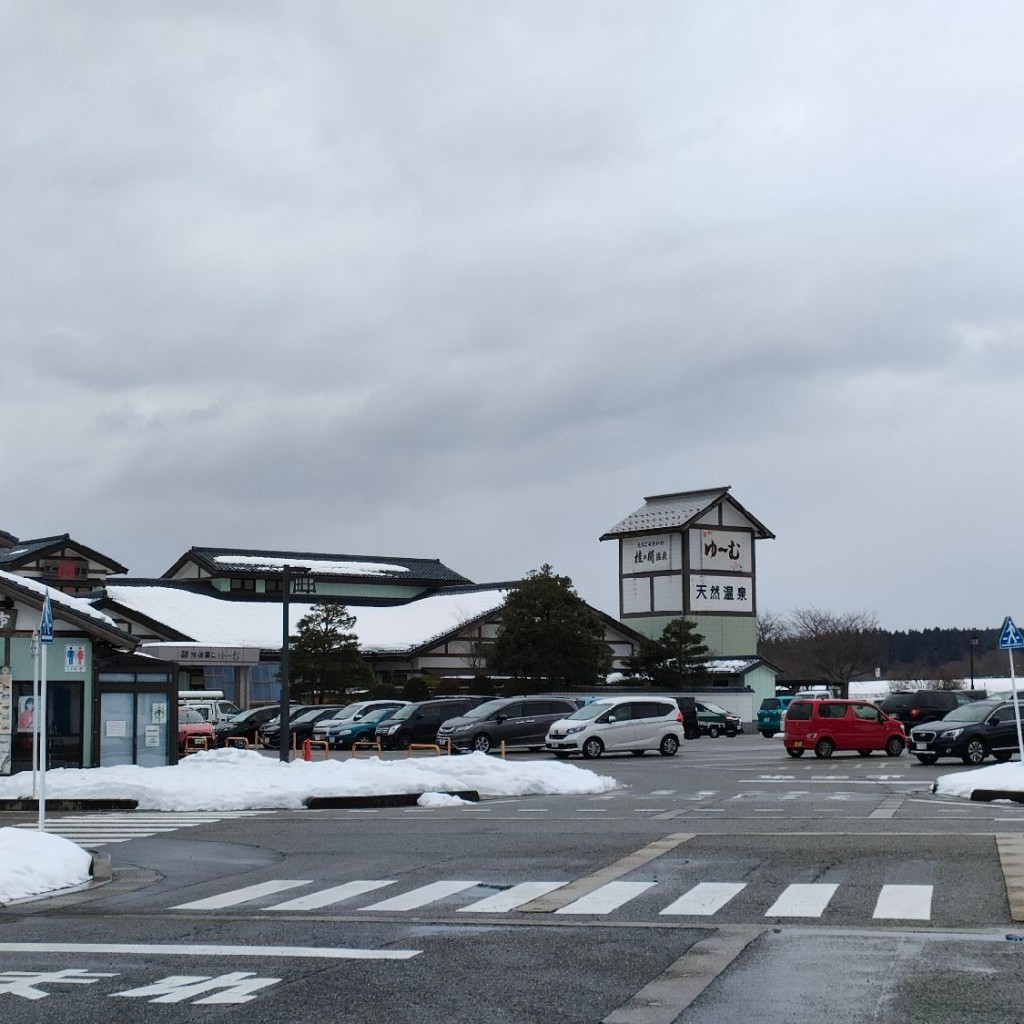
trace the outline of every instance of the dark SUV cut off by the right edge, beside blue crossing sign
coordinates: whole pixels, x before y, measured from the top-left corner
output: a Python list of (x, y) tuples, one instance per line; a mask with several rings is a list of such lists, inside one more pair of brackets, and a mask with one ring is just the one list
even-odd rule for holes
[(913, 726), (908, 745), (925, 765), (934, 765), (939, 758), (959, 758), (966, 765), (980, 765), (989, 754), (996, 761), (1009, 761), (1017, 743), (1014, 702), (996, 698), (972, 700), (938, 722)]

